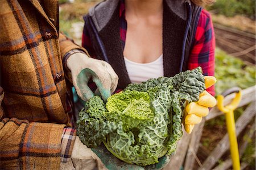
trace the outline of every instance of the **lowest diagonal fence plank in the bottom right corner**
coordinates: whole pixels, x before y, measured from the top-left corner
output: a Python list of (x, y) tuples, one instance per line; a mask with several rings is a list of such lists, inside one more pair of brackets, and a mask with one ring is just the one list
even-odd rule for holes
[[(253, 123), (253, 125), (251, 126), (251, 128), (245, 133), (248, 138), (252, 138), (252, 136), (255, 133), (255, 122)], [(240, 158), (242, 157), (243, 153), (245, 152), (245, 149), (247, 147), (248, 141), (244, 140), (243, 143), (241, 144), (240, 148), (239, 148), (239, 156)], [(216, 168), (214, 168), (213, 170), (224, 170), (224, 169), (228, 169), (229, 167), (232, 166), (232, 159), (227, 159), (224, 161), (224, 163), (221, 163), (220, 165), (218, 165)]]

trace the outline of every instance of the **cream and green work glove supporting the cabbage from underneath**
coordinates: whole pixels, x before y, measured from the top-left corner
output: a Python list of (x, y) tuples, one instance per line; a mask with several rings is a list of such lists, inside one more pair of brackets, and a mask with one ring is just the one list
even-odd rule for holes
[[(95, 160), (98, 169), (110, 169), (110, 170), (160, 170), (164, 168), (170, 161), (169, 156), (164, 155), (159, 158), (159, 163), (147, 165), (142, 167), (134, 164), (127, 164), (122, 160), (119, 160), (113, 154), (111, 154), (104, 144), (102, 143), (97, 148), (87, 148), (84, 144), (81, 143), (78, 136), (76, 136), (75, 144), (73, 146), (73, 151), (71, 159), (80, 159), (80, 160)], [(91, 163), (92, 164), (92, 163)], [(88, 165), (89, 166), (89, 165)], [(91, 167), (92, 168), (92, 167)], [(89, 168), (88, 168), (89, 169)]]

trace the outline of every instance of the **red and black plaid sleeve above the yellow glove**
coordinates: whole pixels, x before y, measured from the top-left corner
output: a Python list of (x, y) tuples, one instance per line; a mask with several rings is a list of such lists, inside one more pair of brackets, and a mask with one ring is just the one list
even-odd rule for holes
[[(189, 54), (188, 69), (201, 67), (204, 76), (214, 76), (215, 37), (212, 18), (208, 11), (202, 10), (196, 28), (195, 39)], [(215, 95), (214, 86), (207, 91)]]

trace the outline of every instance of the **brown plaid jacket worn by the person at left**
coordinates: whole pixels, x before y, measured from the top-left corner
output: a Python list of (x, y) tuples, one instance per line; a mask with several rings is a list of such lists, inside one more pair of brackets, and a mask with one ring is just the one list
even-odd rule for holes
[(57, 0), (1, 1), (0, 169), (59, 169), (61, 140), (75, 135), (64, 129), (63, 60), (86, 51), (59, 34), (58, 9)]

